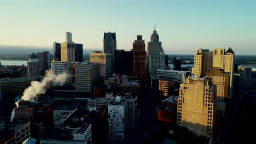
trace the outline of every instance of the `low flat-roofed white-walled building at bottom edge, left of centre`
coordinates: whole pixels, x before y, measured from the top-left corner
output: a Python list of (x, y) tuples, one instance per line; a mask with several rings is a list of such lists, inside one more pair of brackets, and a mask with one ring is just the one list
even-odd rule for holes
[(55, 128), (40, 139), (40, 144), (89, 144), (91, 139), (91, 124), (83, 124), (78, 129)]

